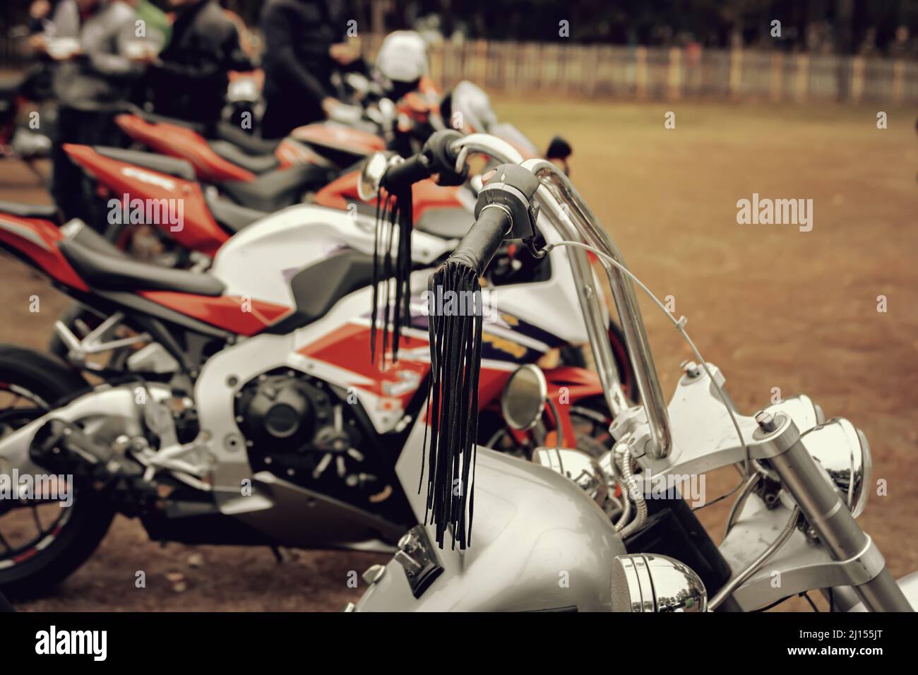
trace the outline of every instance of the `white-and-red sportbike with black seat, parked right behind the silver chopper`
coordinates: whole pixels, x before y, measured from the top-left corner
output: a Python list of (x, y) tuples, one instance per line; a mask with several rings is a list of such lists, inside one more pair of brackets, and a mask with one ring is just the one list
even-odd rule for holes
[[(429, 163), (427, 174), (455, 166), (448, 144), (436, 156), (445, 166)], [(404, 164), (407, 180), (418, 180), (417, 165)], [(398, 234), (385, 242), (395, 248), (380, 250), (375, 231), (346, 213), (287, 209), (226, 242), (199, 274), (130, 260), (78, 220), (58, 228), (27, 209), (0, 213), (0, 247), (100, 315), (83, 336), (59, 325), (73, 360), (88, 368), (94, 354), (109, 354), (120, 362), (117, 376), (89, 388), (49, 356), (0, 348), (0, 474), (18, 478), (0, 500), (0, 590), (41, 591), (66, 577), (115, 512), (139, 517), (156, 540), (394, 545), (416, 523), (406, 495), (418, 486), (414, 478), (403, 484), (394, 467), (424, 419), (426, 307), (439, 300), (423, 293), (431, 266), (453, 245), (410, 233), (413, 257), (427, 268), (392, 303), (398, 316), (404, 302), (409, 320), (397, 361), (384, 367), (385, 337), (375, 357), (370, 347), (375, 316), (390, 316), (390, 303), (371, 308), (397, 283), (375, 286), (375, 266), (388, 275)], [(481, 443), (525, 455), (533, 441), (596, 446), (605, 438), (606, 399), (582, 368), (546, 368), (549, 397), (569, 404), (555, 406), (555, 430), (510, 430), (498, 404), (517, 367), (544, 365), (555, 350), (587, 341), (568, 301), (578, 289), (559, 272), (566, 255), (547, 256), (538, 284), (490, 289)]]

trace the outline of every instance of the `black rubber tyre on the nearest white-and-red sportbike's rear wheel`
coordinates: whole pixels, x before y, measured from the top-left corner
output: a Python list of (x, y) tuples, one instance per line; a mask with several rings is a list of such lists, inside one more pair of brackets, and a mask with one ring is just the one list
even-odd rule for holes
[[(14, 431), (28, 422), (29, 417), (36, 419), (53, 410), (58, 401), (72, 397), (86, 386), (82, 377), (49, 356), (0, 345), (0, 388), (31, 404), (12, 407), (5, 401), (3, 405), (10, 407), (0, 409), (0, 435)], [(20, 506), (0, 512), (0, 534), (11, 514), (28, 508)], [(37, 543), (52, 537), (40, 549), (29, 542), (12, 550), (0, 544), (0, 592), (10, 599), (24, 599), (49, 591), (95, 551), (115, 516), (111, 505), (99, 495), (79, 490), (74, 490), (73, 504), (67, 511), (69, 514), (62, 513), (48, 534), (39, 532)], [(52, 530), (56, 531), (51, 533)]]

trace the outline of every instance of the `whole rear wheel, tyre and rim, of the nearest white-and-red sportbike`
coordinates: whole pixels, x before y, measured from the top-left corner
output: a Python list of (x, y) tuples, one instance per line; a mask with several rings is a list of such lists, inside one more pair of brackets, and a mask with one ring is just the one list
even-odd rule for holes
[[(0, 346), (0, 440), (85, 386), (81, 377), (48, 356)], [(8, 465), (0, 455), (0, 474), (10, 481), (17, 467)], [(39, 479), (33, 484), (62, 489), (60, 478)], [(73, 489), (70, 506), (63, 507), (59, 501), (26, 496), (28, 500), (0, 501), (0, 592), (11, 599), (49, 591), (73, 573), (95, 551), (115, 515), (98, 495), (79, 489)]]

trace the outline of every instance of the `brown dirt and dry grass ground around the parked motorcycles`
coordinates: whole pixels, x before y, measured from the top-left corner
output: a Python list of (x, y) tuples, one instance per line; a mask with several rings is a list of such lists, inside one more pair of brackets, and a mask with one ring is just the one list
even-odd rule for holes
[[(561, 133), (572, 178), (633, 271), (689, 318), (744, 411), (805, 392), (867, 433), (873, 494), (861, 517), (894, 576), (918, 568), (918, 140), (914, 112), (889, 107), (497, 101), (540, 147)], [(878, 110), (889, 129), (877, 129)], [(665, 129), (666, 111), (676, 128)], [(812, 198), (812, 231), (737, 224), (738, 199)], [(44, 201), (30, 174), (0, 163), (0, 199)], [(916, 229), (912, 229), (916, 228)], [(29, 297), (39, 295), (40, 312)], [(885, 296), (887, 310), (878, 311)], [(65, 300), (0, 261), (0, 342), (42, 348)], [(689, 350), (657, 309), (644, 318), (666, 392)], [(709, 500), (735, 473), (708, 481)], [(715, 540), (729, 501), (700, 512)], [(483, 516), (482, 516), (483, 517)], [(158, 546), (118, 518), (83, 568), (25, 610), (337, 610), (373, 554)], [(144, 570), (147, 588), (136, 589)], [(824, 607), (821, 600), (817, 603)], [(800, 601), (781, 609), (806, 607)]]

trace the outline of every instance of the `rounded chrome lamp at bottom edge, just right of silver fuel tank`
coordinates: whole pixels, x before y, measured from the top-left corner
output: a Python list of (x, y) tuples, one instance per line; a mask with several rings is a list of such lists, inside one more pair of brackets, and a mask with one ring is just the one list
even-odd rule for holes
[(649, 553), (612, 561), (612, 612), (707, 612), (708, 592), (692, 568)]

